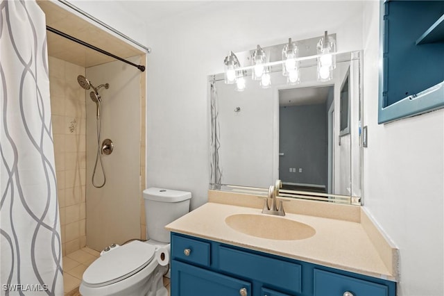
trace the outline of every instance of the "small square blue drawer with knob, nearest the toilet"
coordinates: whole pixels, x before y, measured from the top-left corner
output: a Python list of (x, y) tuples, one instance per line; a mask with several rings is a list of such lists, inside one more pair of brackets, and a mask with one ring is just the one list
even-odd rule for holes
[(171, 256), (182, 261), (203, 266), (210, 266), (210, 243), (171, 236)]

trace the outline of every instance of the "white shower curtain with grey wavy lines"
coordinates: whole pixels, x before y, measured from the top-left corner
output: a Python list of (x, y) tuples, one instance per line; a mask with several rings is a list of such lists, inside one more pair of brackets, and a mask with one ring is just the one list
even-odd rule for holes
[(0, 293), (63, 295), (45, 17), (0, 8)]

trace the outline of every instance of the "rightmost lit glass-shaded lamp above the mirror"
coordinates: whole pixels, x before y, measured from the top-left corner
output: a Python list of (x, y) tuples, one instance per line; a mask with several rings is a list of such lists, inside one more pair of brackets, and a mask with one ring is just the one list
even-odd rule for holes
[(336, 68), (336, 40), (324, 32), (317, 45), (318, 51), (318, 81), (330, 81), (333, 69)]

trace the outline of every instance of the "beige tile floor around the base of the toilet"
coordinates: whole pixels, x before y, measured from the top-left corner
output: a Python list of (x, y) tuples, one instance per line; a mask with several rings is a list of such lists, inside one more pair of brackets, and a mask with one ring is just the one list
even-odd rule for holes
[[(100, 253), (94, 249), (84, 247), (74, 253), (63, 257), (63, 286), (65, 288), (65, 296), (80, 296), (78, 286), (82, 281), (83, 272), (96, 258), (99, 258)], [(164, 277), (164, 286), (170, 295), (170, 281)]]

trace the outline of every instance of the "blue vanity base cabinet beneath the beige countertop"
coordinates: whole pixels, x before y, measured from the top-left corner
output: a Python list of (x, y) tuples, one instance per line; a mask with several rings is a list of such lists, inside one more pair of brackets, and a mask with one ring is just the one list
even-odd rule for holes
[(395, 296), (396, 283), (171, 233), (171, 296), (343, 296), (346, 292)]

